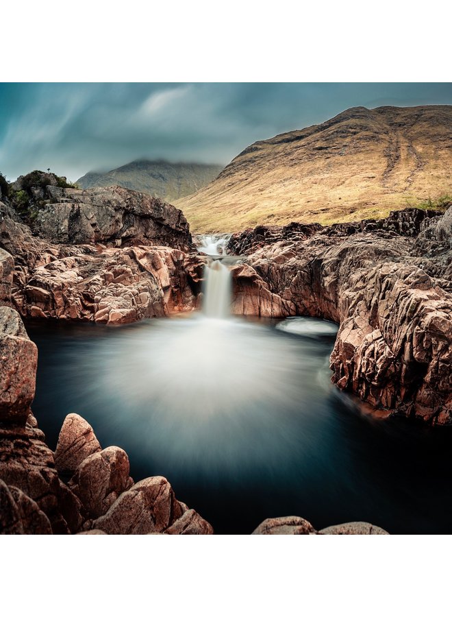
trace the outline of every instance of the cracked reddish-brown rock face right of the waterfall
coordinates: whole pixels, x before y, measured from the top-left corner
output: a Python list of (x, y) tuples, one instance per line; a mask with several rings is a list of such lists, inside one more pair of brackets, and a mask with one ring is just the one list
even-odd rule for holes
[(373, 407), (452, 423), (452, 208), (236, 234), (234, 313), (340, 324), (333, 381)]

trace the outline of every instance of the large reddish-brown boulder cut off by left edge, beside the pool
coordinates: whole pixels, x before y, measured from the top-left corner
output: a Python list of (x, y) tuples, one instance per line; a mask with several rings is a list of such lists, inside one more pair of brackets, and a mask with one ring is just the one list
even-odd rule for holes
[(38, 350), (21, 317), (0, 306), (0, 422), (25, 425), (36, 385)]

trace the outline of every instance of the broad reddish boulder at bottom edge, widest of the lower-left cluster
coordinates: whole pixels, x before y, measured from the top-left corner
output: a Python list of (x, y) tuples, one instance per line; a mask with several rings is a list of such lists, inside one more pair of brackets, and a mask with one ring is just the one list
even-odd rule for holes
[(171, 527), (182, 513), (168, 481), (154, 476), (123, 492), (92, 527), (108, 534), (161, 532)]

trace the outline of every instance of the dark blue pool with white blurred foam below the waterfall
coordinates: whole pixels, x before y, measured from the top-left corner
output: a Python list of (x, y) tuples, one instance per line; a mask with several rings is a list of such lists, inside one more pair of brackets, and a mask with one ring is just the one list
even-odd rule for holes
[(124, 448), (136, 481), (163, 475), (216, 533), (298, 515), (390, 533), (450, 533), (452, 434), (377, 421), (329, 383), (334, 332), (240, 319), (108, 328), (29, 322), (33, 409), (54, 448), (67, 413)]

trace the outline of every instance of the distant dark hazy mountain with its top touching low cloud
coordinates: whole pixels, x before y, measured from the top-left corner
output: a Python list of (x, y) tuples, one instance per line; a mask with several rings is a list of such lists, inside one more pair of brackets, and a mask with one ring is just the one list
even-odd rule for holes
[(205, 186), (223, 169), (221, 165), (171, 163), (166, 160), (134, 160), (106, 173), (88, 171), (77, 180), (81, 189), (118, 184), (174, 202)]

